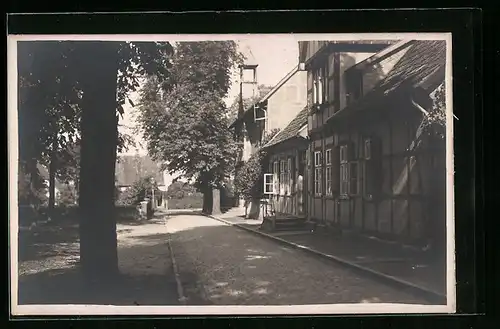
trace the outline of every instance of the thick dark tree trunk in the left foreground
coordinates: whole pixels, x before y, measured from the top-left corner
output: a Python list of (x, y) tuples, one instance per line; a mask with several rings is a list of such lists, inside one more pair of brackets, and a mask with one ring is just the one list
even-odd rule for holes
[(84, 277), (93, 282), (118, 275), (114, 205), (117, 46), (114, 42), (82, 46), (80, 263)]

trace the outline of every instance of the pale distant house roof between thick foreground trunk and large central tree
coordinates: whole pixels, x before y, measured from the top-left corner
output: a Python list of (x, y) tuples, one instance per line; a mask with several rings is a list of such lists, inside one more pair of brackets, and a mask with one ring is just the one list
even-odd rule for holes
[(115, 170), (118, 186), (131, 186), (141, 177), (154, 175), (156, 183), (163, 185), (163, 172), (159, 164), (147, 155), (122, 155), (116, 163)]

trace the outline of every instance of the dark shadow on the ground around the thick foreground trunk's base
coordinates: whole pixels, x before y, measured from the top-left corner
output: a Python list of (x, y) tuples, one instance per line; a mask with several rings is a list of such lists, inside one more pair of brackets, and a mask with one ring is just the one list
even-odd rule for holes
[[(162, 248), (158, 262), (164, 270), (150, 273), (151, 262), (144, 261)], [(141, 260), (123, 264), (122, 259), (138, 255)], [(132, 255), (132, 257), (134, 257)], [(47, 269), (19, 277), (18, 303), (25, 304), (97, 304), (97, 305), (177, 305), (175, 278), (171, 269), (168, 248), (162, 245), (141, 245), (119, 250), (120, 265), (135, 267), (111, 283), (90, 286), (82, 279), (78, 262), (60, 269)], [(130, 262), (130, 261), (129, 261)]]

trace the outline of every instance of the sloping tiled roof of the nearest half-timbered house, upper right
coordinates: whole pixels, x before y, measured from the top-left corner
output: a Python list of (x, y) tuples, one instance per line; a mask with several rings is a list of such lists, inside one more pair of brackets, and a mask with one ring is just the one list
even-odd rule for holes
[(370, 105), (374, 98), (388, 96), (399, 87), (430, 87), (429, 81), (444, 80), (446, 63), (446, 41), (412, 40), (409, 47), (400, 46), (400, 51), (408, 49), (391, 71), (363, 98), (335, 113), (330, 120), (354, 110)]

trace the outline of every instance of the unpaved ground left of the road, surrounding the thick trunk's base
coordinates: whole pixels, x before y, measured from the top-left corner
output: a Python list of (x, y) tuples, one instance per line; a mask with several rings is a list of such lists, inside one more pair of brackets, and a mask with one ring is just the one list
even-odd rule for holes
[(176, 305), (163, 221), (118, 224), (122, 276), (105, 289), (81, 283), (78, 226), (45, 225), (19, 234), (19, 304)]

